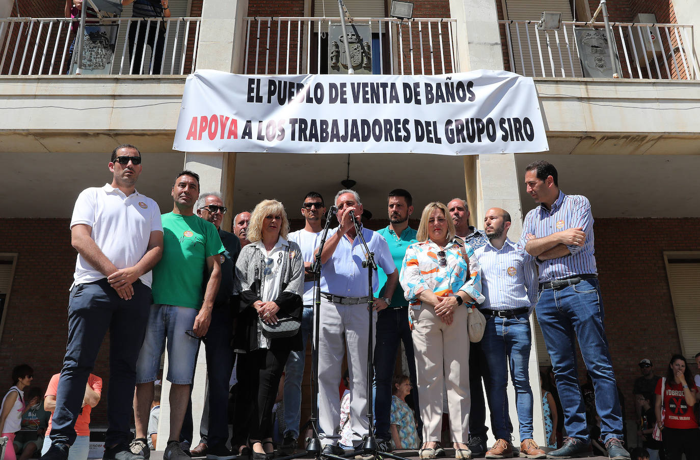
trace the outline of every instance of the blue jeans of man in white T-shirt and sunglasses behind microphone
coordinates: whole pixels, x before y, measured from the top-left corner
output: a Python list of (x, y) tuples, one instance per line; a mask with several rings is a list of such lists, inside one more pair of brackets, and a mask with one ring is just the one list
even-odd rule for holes
[(299, 437), (299, 424), (302, 407), (302, 377), (306, 363), (306, 345), (309, 335), (314, 331), (314, 308), (304, 306), (302, 312), (302, 350), (292, 351), (287, 359), (284, 371), (284, 424), (287, 431), (284, 436)]

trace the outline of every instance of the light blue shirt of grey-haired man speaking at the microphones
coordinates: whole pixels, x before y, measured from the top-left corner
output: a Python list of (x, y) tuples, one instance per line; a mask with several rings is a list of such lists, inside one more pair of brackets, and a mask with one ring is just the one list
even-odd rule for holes
[[(335, 235), (338, 229), (328, 231), (328, 237)], [(374, 261), (391, 275), (396, 271), (396, 266), (391, 257), (388, 244), (383, 236), (376, 231), (362, 227), (362, 235), (367, 241), (370, 252), (374, 252)], [(364, 297), (369, 294), (367, 285), (367, 268), (362, 267), (367, 260), (365, 247), (356, 237), (352, 243), (347, 235), (340, 238), (335, 252), (328, 261), (321, 266), (321, 292), (328, 292), (335, 296)], [(372, 292), (379, 287), (377, 272), (372, 273)]]

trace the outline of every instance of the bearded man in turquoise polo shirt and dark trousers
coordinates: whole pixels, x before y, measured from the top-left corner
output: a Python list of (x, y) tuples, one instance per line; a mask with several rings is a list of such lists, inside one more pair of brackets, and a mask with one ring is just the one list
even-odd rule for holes
[[(406, 248), (416, 243), (416, 231), (408, 226), (408, 218), (413, 213), (413, 198), (405, 189), (393, 189), (388, 196), (389, 224), (386, 228), (377, 231), (384, 236), (389, 245), (394, 264), (400, 267)], [(398, 284), (398, 283), (397, 283)], [(379, 273), (379, 290), (386, 290), (386, 275)], [(380, 297), (383, 294), (379, 294)], [(391, 415), (391, 381), (396, 365), (396, 352), (398, 344), (403, 342), (408, 361), (408, 370), (411, 378), (411, 398), (414, 414), (418, 422), (418, 432), (421, 433), (421, 422), (418, 408), (418, 391), (416, 387), (416, 361), (413, 358), (413, 339), (408, 325), (408, 301), (403, 295), (400, 286), (394, 291), (391, 299), (385, 298), (387, 308), (377, 315), (377, 341), (374, 346), (374, 387), (376, 399), (374, 401), (374, 418), (377, 438), (384, 440), (386, 445), (391, 440), (389, 417)]]

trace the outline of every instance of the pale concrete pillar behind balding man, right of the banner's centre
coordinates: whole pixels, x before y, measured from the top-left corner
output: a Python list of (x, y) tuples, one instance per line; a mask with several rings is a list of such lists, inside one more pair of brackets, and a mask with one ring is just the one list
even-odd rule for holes
[[(498, 31), (498, 10), (495, 1), (450, 0), (451, 16), (456, 18), (458, 69), (503, 70), (503, 54)], [(514, 154), (470, 155), (464, 157), (465, 189), (471, 211), (470, 224), (484, 228), (484, 212), (489, 208), (503, 208), (510, 213), (512, 227), (508, 231), (511, 240), (517, 240), (522, 231), (522, 207), (518, 190), (518, 178)], [(534, 330), (534, 329), (533, 329)], [(537, 443), (545, 443), (542, 417), (539, 367), (537, 350), (532, 336), (532, 350), (528, 370), (534, 398), (533, 427)], [(517, 410), (512, 383), (507, 388), (510, 419), (513, 424), (515, 442), (518, 438)], [(489, 408), (486, 408), (489, 412)], [(486, 416), (489, 420), (489, 415)], [(489, 423), (489, 422), (487, 422)], [(493, 431), (489, 431), (489, 443), (493, 442)]]

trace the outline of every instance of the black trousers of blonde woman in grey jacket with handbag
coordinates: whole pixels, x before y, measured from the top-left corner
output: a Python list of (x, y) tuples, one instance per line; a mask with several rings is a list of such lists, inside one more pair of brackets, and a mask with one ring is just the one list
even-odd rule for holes
[(288, 348), (274, 345), (238, 355), (235, 421), (239, 426), (234, 426), (234, 445), (245, 443), (246, 438), (272, 438), (272, 406), (288, 357)]

